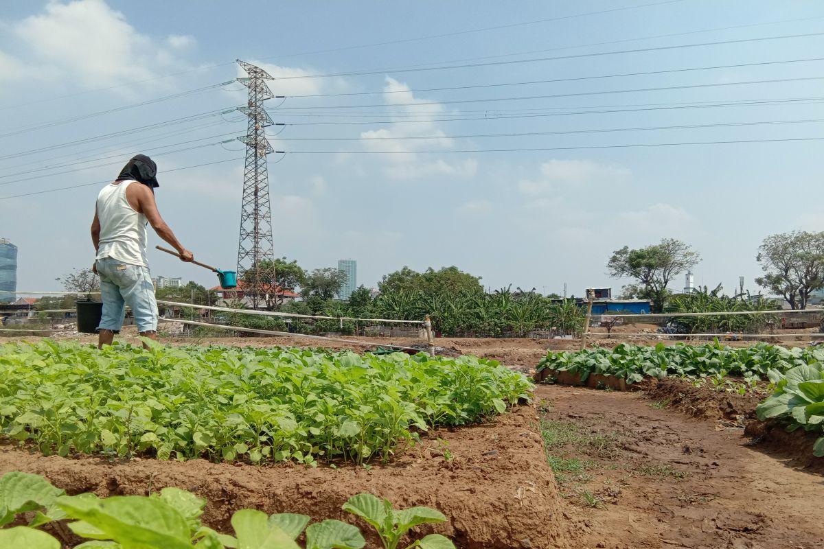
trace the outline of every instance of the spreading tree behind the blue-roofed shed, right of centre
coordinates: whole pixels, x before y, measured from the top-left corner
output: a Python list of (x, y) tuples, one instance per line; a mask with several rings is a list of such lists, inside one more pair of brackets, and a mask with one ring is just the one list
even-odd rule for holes
[[(611, 277), (634, 278), (652, 301), (653, 311), (661, 313), (670, 291), (667, 285), (681, 272), (695, 267), (700, 255), (681, 240), (662, 239), (640, 249), (624, 246), (616, 250), (606, 268)], [(638, 290), (639, 292), (641, 290)]]

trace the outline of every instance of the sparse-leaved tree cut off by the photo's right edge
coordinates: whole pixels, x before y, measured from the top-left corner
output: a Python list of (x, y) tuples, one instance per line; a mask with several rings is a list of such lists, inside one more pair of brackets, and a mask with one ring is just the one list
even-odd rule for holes
[(784, 297), (793, 309), (807, 309), (810, 294), (824, 288), (824, 232), (770, 235), (756, 260), (764, 271), (756, 283)]

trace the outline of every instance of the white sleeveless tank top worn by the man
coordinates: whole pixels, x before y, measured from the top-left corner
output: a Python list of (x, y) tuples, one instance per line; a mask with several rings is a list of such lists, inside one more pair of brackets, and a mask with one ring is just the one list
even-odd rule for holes
[(101, 222), (100, 248), (97, 258), (112, 258), (130, 265), (148, 265), (146, 261), (146, 216), (134, 210), (126, 198), (126, 189), (137, 181), (108, 184), (97, 195), (97, 218)]

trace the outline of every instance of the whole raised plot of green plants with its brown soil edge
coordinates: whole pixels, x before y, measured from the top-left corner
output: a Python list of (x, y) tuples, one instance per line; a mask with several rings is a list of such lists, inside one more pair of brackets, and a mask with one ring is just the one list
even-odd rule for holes
[(343, 520), (366, 492), (441, 510), (421, 528), (457, 547), (567, 547), (531, 384), (494, 361), (44, 341), (0, 370), (0, 472), (70, 494), (176, 486), (226, 532), (242, 508)]

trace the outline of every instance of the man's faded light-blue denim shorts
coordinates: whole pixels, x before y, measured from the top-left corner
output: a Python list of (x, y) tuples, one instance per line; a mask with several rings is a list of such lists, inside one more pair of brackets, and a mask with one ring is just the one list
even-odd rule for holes
[(98, 259), (96, 266), (103, 298), (103, 316), (97, 329), (119, 332), (124, 305), (129, 305), (139, 333), (157, 332), (157, 301), (148, 268), (113, 258)]

